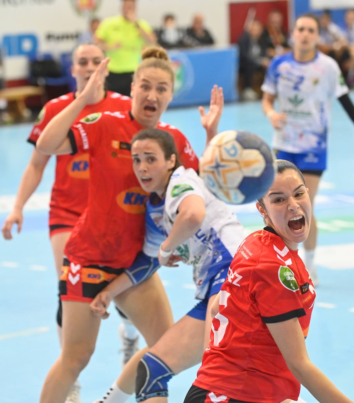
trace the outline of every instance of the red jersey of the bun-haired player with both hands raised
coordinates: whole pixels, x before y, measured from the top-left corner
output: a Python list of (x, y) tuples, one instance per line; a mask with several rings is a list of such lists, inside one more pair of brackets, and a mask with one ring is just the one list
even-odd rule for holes
[[(73, 151), (89, 153), (90, 181), (87, 208), (64, 250), (69, 261), (125, 268), (142, 250), (148, 194), (135, 177), (130, 154), (130, 141), (141, 129), (130, 112), (94, 113), (73, 125)], [(182, 163), (198, 168), (180, 131), (165, 123), (158, 129), (171, 133)]]

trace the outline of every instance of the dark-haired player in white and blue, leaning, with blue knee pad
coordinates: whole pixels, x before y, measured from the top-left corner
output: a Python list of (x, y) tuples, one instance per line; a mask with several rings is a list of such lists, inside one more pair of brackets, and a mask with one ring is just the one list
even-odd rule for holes
[[(193, 169), (180, 166), (176, 153), (173, 138), (159, 129), (144, 129), (131, 141), (135, 175), (142, 188), (151, 193), (146, 210), (152, 225), (150, 230), (146, 225), (143, 250), (158, 256), (161, 265), (174, 267), (183, 260), (193, 266), (196, 298), (200, 301), (140, 359), (135, 387), (137, 401), (157, 397), (166, 400), (169, 379), (201, 361), (210, 341), (210, 305), (245, 237), (229, 206), (210, 193)], [(156, 227), (160, 232), (151, 233)], [(162, 243), (158, 245), (157, 240)], [(119, 278), (113, 280), (107, 287), (112, 291), (114, 283), (119, 287), (119, 281)], [(103, 310), (99, 309), (99, 295), (91, 306), (96, 313), (105, 315), (107, 304), (101, 304)], [(102, 401), (123, 401), (113, 394), (109, 391)]]

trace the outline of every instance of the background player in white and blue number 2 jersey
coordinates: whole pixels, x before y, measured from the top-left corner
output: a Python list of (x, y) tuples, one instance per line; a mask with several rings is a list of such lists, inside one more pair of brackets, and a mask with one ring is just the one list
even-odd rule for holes
[[(274, 58), (269, 65), (262, 85), (262, 107), (275, 129), (273, 147), (277, 158), (289, 160), (301, 170), (313, 208), (326, 168), (331, 99), (341, 102), (353, 122), (354, 106), (337, 62), (317, 50), (317, 17), (310, 13), (298, 17), (292, 36), (293, 52)], [(273, 107), (276, 98), (277, 111)], [(304, 241), (304, 263), (315, 284), (316, 240), (312, 214), (310, 233)]]

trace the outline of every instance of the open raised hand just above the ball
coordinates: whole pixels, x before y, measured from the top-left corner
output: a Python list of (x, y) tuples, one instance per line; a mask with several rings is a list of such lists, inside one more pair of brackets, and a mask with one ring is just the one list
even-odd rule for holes
[(205, 109), (200, 106), (200, 121), (202, 126), (206, 130), (206, 144), (218, 134), (218, 126), (224, 107), (224, 94), (223, 88), (214, 85), (210, 94), (210, 106), (208, 113), (205, 113)]

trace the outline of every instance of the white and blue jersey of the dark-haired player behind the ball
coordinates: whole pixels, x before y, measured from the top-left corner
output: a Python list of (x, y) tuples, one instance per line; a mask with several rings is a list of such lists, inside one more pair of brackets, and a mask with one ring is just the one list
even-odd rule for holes
[(177, 210), (182, 200), (189, 195), (202, 197), (206, 217), (198, 232), (179, 245), (173, 252), (181, 256), (185, 264), (193, 266), (193, 279), (197, 286), (196, 298), (204, 299), (209, 280), (228, 269), (245, 234), (229, 206), (217, 199), (204, 185), (194, 169), (180, 166), (173, 172), (165, 196), (165, 210), (160, 228), (171, 232)]

